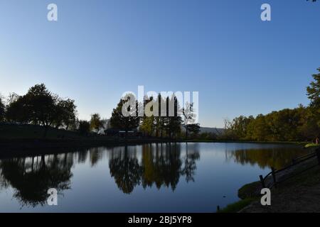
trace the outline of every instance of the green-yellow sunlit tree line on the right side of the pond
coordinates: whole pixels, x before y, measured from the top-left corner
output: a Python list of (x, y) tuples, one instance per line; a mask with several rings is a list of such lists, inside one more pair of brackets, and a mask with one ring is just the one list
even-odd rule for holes
[(270, 114), (239, 116), (225, 121), (223, 137), (230, 140), (310, 141), (320, 137), (320, 68), (306, 88), (309, 106), (272, 111)]

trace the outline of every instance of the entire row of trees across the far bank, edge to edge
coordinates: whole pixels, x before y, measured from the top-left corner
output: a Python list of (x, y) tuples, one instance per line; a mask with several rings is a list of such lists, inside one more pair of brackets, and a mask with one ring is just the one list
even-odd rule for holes
[[(77, 118), (75, 101), (60, 98), (48, 91), (44, 84), (36, 84), (22, 96), (10, 94), (6, 104), (0, 96), (0, 121), (43, 126), (46, 128), (44, 136), (49, 127), (79, 131), (83, 135), (92, 131), (97, 133), (105, 128), (125, 132), (139, 128), (144, 135), (161, 138), (309, 141), (320, 137), (320, 68), (318, 71), (318, 74), (312, 75), (313, 81), (306, 88), (310, 99), (309, 106), (299, 105), (295, 109), (225, 120), (223, 132), (199, 134), (200, 126), (194, 123), (196, 116), (193, 104), (187, 103), (181, 108), (176, 96), (162, 97), (161, 94), (156, 99), (145, 96), (142, 104), (137, 102), (137, 108), (128, 107), (127, 111), (135, 111), (129, 116), (122, 114), (129, 97), (127, 100), (121, 99), (112, 111), (108, 126), (107, 120), (102, 119), (100, 114), (92, 114), (90, 121), (80, 121)], [(174, 104), (173, 115), (169, 114), (169, 104)], [(143, 116), (138, 114), (139, 105), (146, 109)]]

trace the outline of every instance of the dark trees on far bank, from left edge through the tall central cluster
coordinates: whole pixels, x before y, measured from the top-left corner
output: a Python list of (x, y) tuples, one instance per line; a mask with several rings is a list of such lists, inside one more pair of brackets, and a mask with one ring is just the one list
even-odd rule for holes
[[(100, 114), (92, 114), (90, 121), (79, 120), (77, 118), (77, 106), (73, 99), (62, 99), (57, 94), (50, 92), (45, 84), (36, 84), (28, 89), (24, 95), (10, 94), (4, 104), (4, 99), (0, 98), (0, 121), (9, 123), (24, 123), (43, 126), (48, 128), (64, 128), (65, 130), (78, 131), (82, 135), (88, 135), (91, 132), (101, 132), (105, 128), (115, 128), (121, 131), (132, 131), (139, 128), (144, 135), (176, 138), (181, 137), (181, 127), (185, 128), (185, 136), (189, 133), (198, 133), (200, 126), (192, 123), (194, 118), (192, 104), (188, 104), (187, 108), (180, 109), (180, 104), (175, 96), (159, 97), (157, 100), (144, 98), (144, 103), (138, 105), (146, 106), (153, 102), (159, 103), (159, 107), (166, 105), (166, 116), (124, 116), (122, 108), (126, 103), (126, 99), (120, 99), (117, 107), (113, 109), (112, 116), (107, 125), (107, 120), (102, 119)], [(169, 104), (174, 103), (174, 116), (169, 116)], [(149, 110), (153, 111), (153, 106)], [(129, 109), (129, 111), (131, 111)], [(137, 111), (137, 109), (135, 110)], [(183, 111), (183, 117), (178, 115), (178, 111)], [(156, 115), (156, 114), (155, 114)]]

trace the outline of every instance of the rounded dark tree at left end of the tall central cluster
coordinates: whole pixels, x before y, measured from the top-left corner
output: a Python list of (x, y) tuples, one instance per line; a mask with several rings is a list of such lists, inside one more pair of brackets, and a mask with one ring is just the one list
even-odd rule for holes
[[(113, 109), (112, 116), (110, 118), (110, 125), (112, 128), (124, 130), (126, 133), (134, 128), (137, 128), (140, 123), (137, 108), (129, 106), (127, 108), (129, 116), (124, 116), (122, 114), (122, 107), (124, 107), (124, 104), (127, 101), (129, 101), (129, 97), (127, 99), (121, 99), (119, 104), (117, 104), (117, 107)], [(137, 101), (135, 102), (138, 105)]]

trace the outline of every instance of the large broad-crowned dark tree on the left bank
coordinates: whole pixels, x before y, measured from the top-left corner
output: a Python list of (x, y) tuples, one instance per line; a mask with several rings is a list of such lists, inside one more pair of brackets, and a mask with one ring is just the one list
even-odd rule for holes
[(8, 121), (44, 126), (45, 137), (49, 126), (64, 126), (68, 130), (70, 125), (75, 125), (75, 101), (60, 99), (58, 95), (49, 92), (44, 84), (36, 84), (23, 96), (10, 94), (8, 102)]

